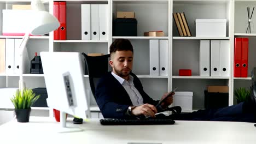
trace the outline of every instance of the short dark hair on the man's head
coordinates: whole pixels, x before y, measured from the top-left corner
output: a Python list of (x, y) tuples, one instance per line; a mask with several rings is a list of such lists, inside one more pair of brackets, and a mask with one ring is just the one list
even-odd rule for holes
[(133, 47), (130, 40), (127, 39), (116, 39), (111, 45), (109, 49), (109, 53), (113, 53), (116, 51), (132, 51)]

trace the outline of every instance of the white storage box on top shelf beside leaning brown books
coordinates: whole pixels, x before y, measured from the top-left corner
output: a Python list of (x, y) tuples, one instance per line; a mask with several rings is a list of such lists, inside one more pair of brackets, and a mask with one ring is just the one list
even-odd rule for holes
[(226, 37), (226, 19), (196, 19), (196, 37)]

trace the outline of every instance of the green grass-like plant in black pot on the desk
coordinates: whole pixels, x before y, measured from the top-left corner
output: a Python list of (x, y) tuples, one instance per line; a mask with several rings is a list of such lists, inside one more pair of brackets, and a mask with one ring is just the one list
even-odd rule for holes
[(18, 122), (30, 121), (31, 106), (36, 100), (38, 100), (39, 97), (40, 95), (36, 96), (32, 89), (24, 88), (23, 95), (21, 95), (21, 92), (18, 89), (15, 95), (10, 98), (14, 105), (14, 111)]

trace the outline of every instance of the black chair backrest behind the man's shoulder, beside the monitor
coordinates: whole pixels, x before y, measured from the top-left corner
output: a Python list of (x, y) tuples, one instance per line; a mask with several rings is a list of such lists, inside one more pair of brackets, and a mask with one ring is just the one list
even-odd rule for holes
[[(95, 97), (95, 88), (97, 81), (108, 72), (108, 59), (110, 54), (103, 56), (88, 56), (84, 52), (82, 53), (87, 65), (87, 71), (89, 75), (89, 82), (91, 87), (91, 92)], [(85, 68), (86, 70), (86, 68)]]

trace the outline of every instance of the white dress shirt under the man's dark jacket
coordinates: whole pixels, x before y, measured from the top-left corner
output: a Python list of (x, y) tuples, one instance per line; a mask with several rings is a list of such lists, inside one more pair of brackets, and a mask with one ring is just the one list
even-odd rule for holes
[(125, 88), (125, 91), (128, 93), (131, 101), (132, 101), (132, 105), (133, 106), (137, 106), (137, 105), (142, 105), (143, 103), (143, 98), (141, 96), (141, 94), (138, 92), (137, 88), (134, 86), (133, 83), (133, 76), (129, 75), (129, 80), (126, 81), (125, 79), (123, 79), (122, 77), (116, 75), (113, 73), (111, 73), (115, 79), (117, 79), (121, 85)]

